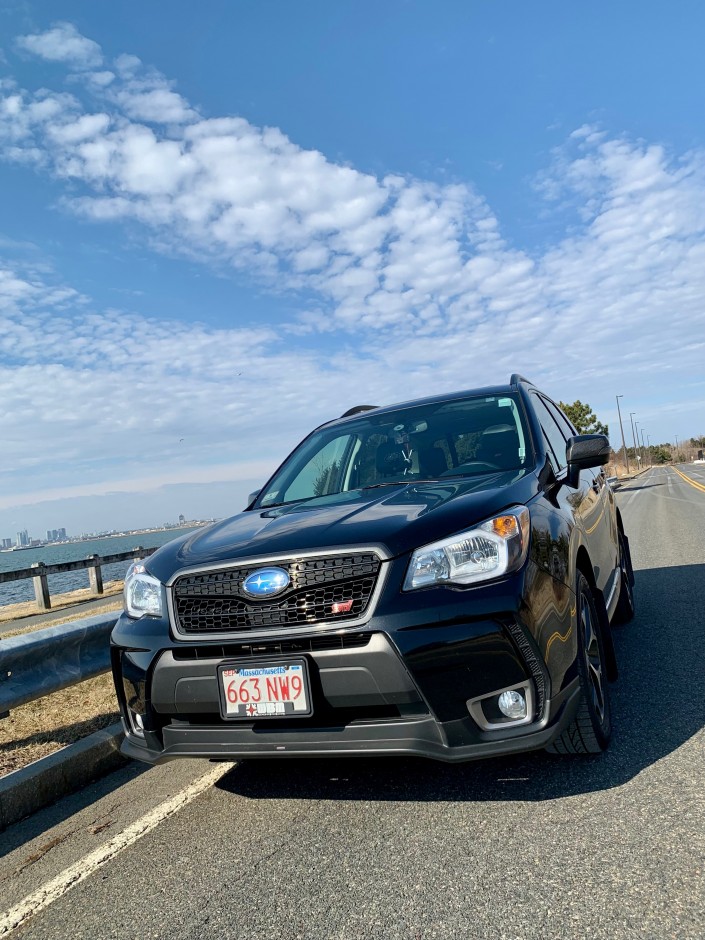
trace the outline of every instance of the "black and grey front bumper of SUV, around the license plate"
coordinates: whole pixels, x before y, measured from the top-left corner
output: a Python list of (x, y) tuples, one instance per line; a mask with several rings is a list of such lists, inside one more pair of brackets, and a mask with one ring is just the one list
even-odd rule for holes
[[(355, 631), (249, 642), (185, 644), (169, 637), (164, 621), (123, 616), (112, 648), (123, 753), (148, 763), (353, 754), (467, 761), (545, 747), (575, 713), (577, 682), (552, 681), (534, 630), (522, 621), (520, 585), (474, 593), (474, 616), (468, 596), (426, 592), (403, 598), (406, 610), (382, 607)], [(218, 666), (289, 655), (308, 664), (310, 718), (221, 717)], [(468, 701), (526, 682), (531, 722), (487, 730), (473, 720)]]

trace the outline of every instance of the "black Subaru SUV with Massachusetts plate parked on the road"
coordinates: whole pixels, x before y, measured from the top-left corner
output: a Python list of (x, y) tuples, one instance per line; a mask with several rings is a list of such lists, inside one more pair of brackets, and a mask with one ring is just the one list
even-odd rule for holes
[(322, 425), (244, 512), (128, 572), (123, 752), (603, 750), (633, 615), (608, 455), (518, 375)]

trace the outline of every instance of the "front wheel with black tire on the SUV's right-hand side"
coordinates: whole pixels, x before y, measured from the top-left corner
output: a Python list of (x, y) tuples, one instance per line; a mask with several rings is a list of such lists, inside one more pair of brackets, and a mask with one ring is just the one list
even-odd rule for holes
[(580, 704), (571, 724), (546, 750), (551, 754), (600, 754), (612, 736), (605, 647), (595, 599), (580, 572), (575, 593)]

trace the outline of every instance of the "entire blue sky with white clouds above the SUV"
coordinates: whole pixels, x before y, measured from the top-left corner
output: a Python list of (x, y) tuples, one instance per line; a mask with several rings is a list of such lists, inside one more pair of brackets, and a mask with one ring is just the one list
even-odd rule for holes
[(239, 509), (529, 375), (705, 433), (705, 10), (9, 2), (0, 536)]

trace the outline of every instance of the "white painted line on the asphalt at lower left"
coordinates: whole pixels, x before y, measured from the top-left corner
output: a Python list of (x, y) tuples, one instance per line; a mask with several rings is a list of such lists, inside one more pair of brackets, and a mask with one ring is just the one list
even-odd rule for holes
[(10, 908), (9, 911), (0, 914), (0, 937), (7, 937), (13, 930), (24, 924), (28, 918), (44, 910), (45, 907), (49, 907), (54, 901), (58, 901), (75, 885), (80, 884), (89, 875), (105, 865), (106, 862), (115, 858), (124, 849), (133, 845), (142, 836), (151, 832), (152, 829), (155, 829), (160, 822), (168, 819), (169, 816), (173, 816), (174, 813), (194, 800), (204, 790), (212, 787), (232, 766), (230, 763), (216, 764), (207, 774), (189, 784), (180, 793), (160, 803), (159, 806), (150, 810), (137, 822), (132, 823), (127, 829), (123, 829), (105, 845), (90, 852), (80, 861), (52, 878), (51, 881), (42, 885), (41, 888), (38, 888), (32, 894), (28, 894), (26, 898)]

